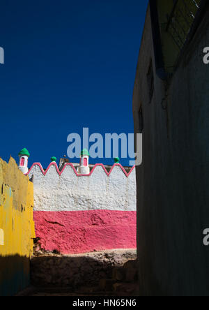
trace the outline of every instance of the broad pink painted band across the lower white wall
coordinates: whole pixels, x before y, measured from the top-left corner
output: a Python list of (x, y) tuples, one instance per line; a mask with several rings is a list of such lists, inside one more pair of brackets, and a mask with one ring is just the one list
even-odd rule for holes
[(62, 254), (136, 249), (137, 212), (34, 212), (42, 249)]

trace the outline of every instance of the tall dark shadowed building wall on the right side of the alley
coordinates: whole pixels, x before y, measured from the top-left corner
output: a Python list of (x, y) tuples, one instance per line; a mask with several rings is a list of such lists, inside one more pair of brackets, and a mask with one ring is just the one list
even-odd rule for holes
[[(134, 85), (135, 132), (144, 115), (137, 167), (137, 253), (141, 295), (209, 295), (209, 13), (183, 54), (168, 91), (146, 73), (153, 55), (149, 10)], [(163, 100), (163, 98), (166, 98)]]

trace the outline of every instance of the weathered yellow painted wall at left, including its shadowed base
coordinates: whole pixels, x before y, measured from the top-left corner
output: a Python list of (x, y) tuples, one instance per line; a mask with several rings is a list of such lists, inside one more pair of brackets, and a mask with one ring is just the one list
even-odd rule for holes
[(0, 295), (14, 295), (29, 285), (35, 237), (33, 183), (0, 158)]

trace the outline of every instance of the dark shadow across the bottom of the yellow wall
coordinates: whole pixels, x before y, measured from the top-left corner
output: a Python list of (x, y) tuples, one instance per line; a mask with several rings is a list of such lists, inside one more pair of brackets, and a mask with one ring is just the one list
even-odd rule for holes
[(30, 284), (30, 259), (0, 256), (0, 296), (13, 296)]

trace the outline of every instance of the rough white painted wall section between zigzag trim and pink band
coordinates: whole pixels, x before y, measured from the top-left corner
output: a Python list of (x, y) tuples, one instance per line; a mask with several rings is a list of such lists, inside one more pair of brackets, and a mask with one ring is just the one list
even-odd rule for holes
[(97, 166), (89, 177), (77, 177), (71, 166), (61, 176), (52, 165), (44, 176), (34, 165), (29, 172), (34, 183), (35, 211), (81, 211), (108, 209), (136, 211), (135, 168), (126, 177), (115, 166), (109, 177)]

